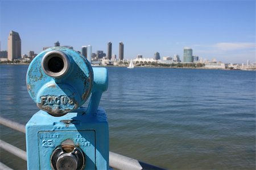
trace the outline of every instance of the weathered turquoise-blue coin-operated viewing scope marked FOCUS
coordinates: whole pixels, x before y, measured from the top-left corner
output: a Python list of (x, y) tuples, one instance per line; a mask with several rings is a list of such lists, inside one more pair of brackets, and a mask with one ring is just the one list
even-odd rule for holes
[(109, 169), (108, 121), (98, 108), (108, 89), (106, 68), (92, 68), (72, 49), (52, 47), (32, 60), (26, 81), (41, 109), (26, 125), (27, 168)]

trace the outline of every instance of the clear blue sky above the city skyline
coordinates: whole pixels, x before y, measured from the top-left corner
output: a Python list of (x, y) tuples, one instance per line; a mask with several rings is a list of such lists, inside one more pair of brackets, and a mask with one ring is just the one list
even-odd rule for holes
[(255, 62), (255, 1), (1, 1), (1, 50), (11, 30), (19, 32), (22, 53), (53, 46), (92, 45), (93, 52), (125, 59), (193, 55), (224, 63)]

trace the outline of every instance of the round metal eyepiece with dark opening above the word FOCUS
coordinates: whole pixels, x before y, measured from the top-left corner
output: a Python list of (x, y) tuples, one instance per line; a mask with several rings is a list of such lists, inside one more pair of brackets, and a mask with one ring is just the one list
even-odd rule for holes
[(47, 52), (42, 59), (44, 73), (51, 77), (64, 76), (69, 69), (70, 62), (65, 53), (57, 50)]

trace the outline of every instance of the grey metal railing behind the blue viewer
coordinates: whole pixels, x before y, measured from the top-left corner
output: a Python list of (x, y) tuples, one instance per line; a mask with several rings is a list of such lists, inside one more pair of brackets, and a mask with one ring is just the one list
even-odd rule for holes
[[(24, 125), (20, 123), (16, 123), (14, 121), (10, 121), (9, 119), (3, 118), (3, 117), (0, 117), (0, 125), (13, 128), (14, 130), (23, 132), (24, 134), (26, 133), (26, 128)], [(0, 148), (14, 154), (15, 156), (18, 156), (20, 159), (27, 161), (26, 151), (20, 150), (20, 148), (17, 148), (9, 143), (6, 143), (1, 139), (0, 139)], [(143, 163), (142, 161), (133, 159), (131, 157), (116, 154), (114, 152), (109, 152), (109, 166), (112, 168), (121, 169), (121, 170), (163, 169), (151, 164)], [(7, 167), (5, 164), (2, 164), (0, 162), (0, 170), (1, 169), (11, 169), (11, 168)]]

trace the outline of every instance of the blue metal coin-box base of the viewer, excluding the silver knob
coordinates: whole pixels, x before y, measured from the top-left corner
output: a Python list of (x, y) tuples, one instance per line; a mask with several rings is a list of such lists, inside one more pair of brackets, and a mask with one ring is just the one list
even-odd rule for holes
[(50, 157), (61, 142), (71, 139), (85, 154), (84, 169), (109, 169), (109, 128), (105, 111), (67, 113), (53, 117), (40, 110), (26, 125), (28, 169), (51, 169)]

